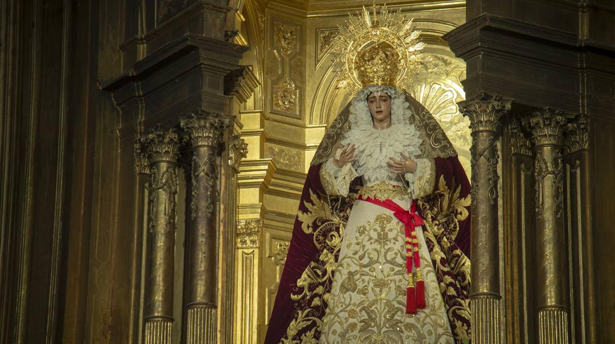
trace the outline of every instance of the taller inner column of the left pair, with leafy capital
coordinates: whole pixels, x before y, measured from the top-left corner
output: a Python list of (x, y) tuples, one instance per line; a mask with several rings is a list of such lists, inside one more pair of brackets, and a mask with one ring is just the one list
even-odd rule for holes
[(188, 258), (188, 297), (186, 298), (186, 342), (217, 341), (218, 287), (216, 262), (217, 226), (215, 218), (218, 193), (216, 156), (229, 118), (199, 112), (181, 121), (192, 143), (192, 201)]

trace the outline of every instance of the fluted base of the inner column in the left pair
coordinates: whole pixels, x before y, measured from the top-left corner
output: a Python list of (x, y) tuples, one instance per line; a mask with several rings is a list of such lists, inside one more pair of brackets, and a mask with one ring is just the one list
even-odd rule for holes
[(217, 314), (216, 306), (197, 303), (188, 306), (186, 321), (186, 343), (216, 343)]

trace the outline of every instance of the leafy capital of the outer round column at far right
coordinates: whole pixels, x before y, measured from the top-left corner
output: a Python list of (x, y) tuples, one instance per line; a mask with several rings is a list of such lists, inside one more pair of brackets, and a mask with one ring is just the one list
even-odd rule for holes
[(568, 119), (561, 110), (544, 108), (523, 119), (523, 126), (532, 134), (534, 146), (561, 146)]

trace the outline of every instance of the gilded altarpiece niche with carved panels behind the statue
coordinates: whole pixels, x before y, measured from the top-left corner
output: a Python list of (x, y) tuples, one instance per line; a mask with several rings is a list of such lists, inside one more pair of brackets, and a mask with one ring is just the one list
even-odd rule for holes
[[(464, 7), (426, 11), (404, 1), (389, 5), (414, 17), (428, 43), (422, 70), (408, 92), (435, 115), (470, 174), (470, 122), (457, 105), (465, 98), (461, 80), (466, 67), (441, 39), (463, 23)], [(259, 86), (239, 111), (248, 153), (238, 175), (237, 344), (264, 338), (305, 173), (325, 129), (351, 97), (335, 87), (329, 52), (336, 25), (360, 7), (310, 6), (247, 1), (241, 16), (238, 37), (251, 51), (240, 64), (252, 66)]]

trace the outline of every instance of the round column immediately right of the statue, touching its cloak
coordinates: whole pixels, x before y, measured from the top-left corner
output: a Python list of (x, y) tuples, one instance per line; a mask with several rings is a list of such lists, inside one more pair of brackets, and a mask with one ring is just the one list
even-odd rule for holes
[(459, 103), (472, 130), (472, 342), (499, 343), (498, 126), (511, 100), (482, 94)]

